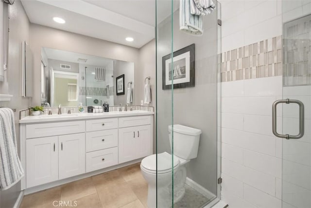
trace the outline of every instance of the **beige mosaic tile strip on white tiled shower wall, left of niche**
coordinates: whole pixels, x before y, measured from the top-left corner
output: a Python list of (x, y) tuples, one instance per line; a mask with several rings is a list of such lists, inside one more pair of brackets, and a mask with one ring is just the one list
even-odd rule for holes
[(282, 36), (222, 53), (222, 82), (280, 75)]

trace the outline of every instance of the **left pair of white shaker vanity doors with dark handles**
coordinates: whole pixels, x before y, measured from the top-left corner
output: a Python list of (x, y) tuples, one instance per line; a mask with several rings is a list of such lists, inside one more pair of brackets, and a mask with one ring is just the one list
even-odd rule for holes
[(27, 188), (85, 173), (85, 133), (26, 140)]

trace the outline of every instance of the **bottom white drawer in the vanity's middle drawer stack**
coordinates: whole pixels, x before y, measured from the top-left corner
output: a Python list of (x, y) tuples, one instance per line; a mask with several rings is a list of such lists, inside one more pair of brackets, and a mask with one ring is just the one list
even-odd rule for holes
[(86, 172), (107, 168), (117, 164), (117, 147), (86, 153)]

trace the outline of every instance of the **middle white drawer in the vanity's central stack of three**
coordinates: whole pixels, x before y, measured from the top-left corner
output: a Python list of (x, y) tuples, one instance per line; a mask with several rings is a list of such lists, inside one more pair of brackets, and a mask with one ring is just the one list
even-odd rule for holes
[(86, 152), (118, 146), (118, 129), (86, 133)]

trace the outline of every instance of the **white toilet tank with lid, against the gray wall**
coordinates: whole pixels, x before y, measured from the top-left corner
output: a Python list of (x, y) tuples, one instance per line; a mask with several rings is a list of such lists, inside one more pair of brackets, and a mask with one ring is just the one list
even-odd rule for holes
[(173, 135), (173, 145), (174, 150), (172, 151), (174, 155), (181, 157), (183, 159), (189, 160), (196, 158), (198, 155), (200, 135), (202, 131), (199, 129), (194, 129), (182, 125), (172, 125), (169, 126), (169, 139), (172, 150), (172, 135)]

